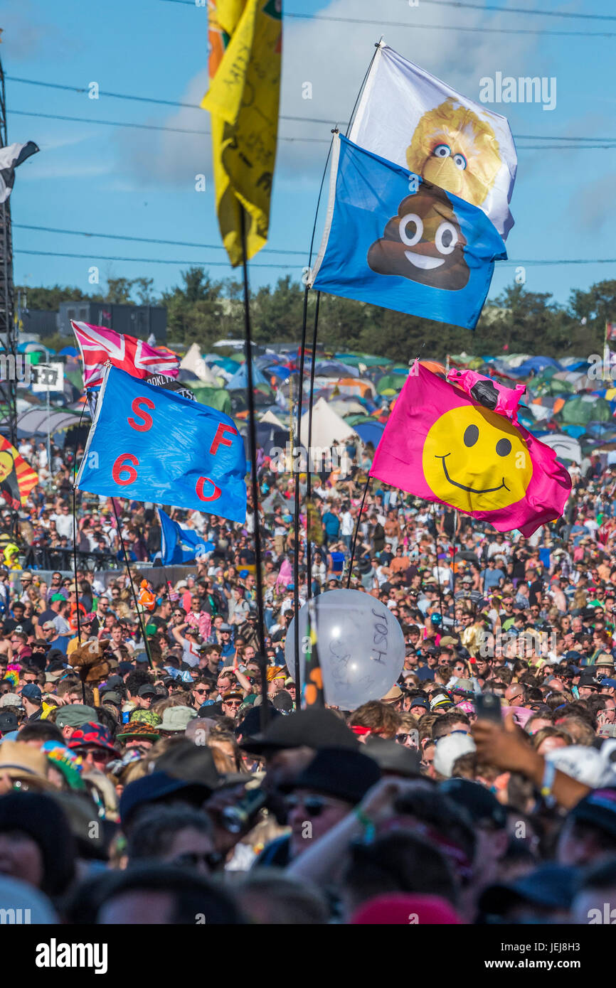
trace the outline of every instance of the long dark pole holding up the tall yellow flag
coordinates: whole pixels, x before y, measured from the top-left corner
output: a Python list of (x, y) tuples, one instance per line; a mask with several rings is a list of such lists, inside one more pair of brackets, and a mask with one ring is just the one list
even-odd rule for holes
[[(250, 288), (248, 286), (248, 256), (246, 249), (246, 213), (239, 205), (239, 226), (241, 235), (241, 264), (244, 283), (244, 333), (246, 344), (246, 383), (248, 385), (248, 436), (250, 440), (250, 485), (252, 491), (252, 517), (254, 518), (254, 554), (256, 557), (255, 577), (257, 595), (257, 616), (259, 646), (262, 661), (265, 662), (265, 620), (263, 617), (263, 571), (261, 567), (261, 530), (259, 528), (259, 482), (257, 477), (257, 434), (254, 410), (254, 384), (252, 374), (252, 328), (250, 325)], [(293, 419), (293, 416), (292, 416)], [(263, 667), (262, 667), (263, 670)], [(267, 679), (261, 672), (261, 730), (269, 720), (267, 708)]]

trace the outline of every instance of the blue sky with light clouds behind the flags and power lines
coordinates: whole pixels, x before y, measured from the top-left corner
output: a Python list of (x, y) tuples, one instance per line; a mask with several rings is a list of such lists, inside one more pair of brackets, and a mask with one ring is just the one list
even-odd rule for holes
[[(483, 0), (473, 0), (482, 5)], [(556, 77), (557, 105), (494, 106), (507, 112), (515, 134), (616, 137), (613, 82), (616, 11), (610, 0), (555, 3), (536, 0), (542, 11), (603, 14), (590, 21), (505, 13), (533, 9), (528, 0), (489, 0), (495, 12), (419, 0), (289, 0), (286, 12), (357, 21), (349, 24), (285, 19), (281, 113), (345, 124), (375, 41), (383, 35), (411, 61), (479, 99), (480, 80), (503, 75)], [(407, 27), (388, 27), (383, 22)], [(420, 25), (435, 25), (425, 30)], [(207, 11), (171, 0), (5, 0), (0, 27), (7, 76), (87, 87), (170, 101), (198, 103), (207, 87)], [(488, 33), (453, 27), (553, 32), (611, 32), (613, 38)], [(312, 99), (303, 99), (310, 82)], [(101, 96), (91, 100), (52, 88), (7, 80), (9, 140), (32, 139), (42, 153), (20, 168), (12, 197), (15, 280), (55, 283), (84, 292), (92, 266), (107, 277), (154, 279), (158, 290), (179, 282), (187, 263), (212, 266), (214, 278), (232, 274), (225, 264), (214, 211), (210, 143), (201, 134), (72, 123), (18, 115), (53, 114), (93, 120), (209, 129), (203, 111)], [(308, 251), (330, 124), (281, 121), (270, 250)], [(526, 150), (518, 142), (518, 173), (511, 209), (516, 225), (507, 240), (512, 262), (528, 259), (616, 257), (614, 195), (616, 144), (609, 149)], [(204, 193), (195, 176), (207, 177)], [(23, 229), (17, 224), (89, 233), (152, 237), (213, 245), (207, 249), (72, 236)], [(320, 226), (317, 231), (320, 233)], [(29, 255), (27, 250), (84, 254), (84, 258)], [(182, 264), (108, 261), (105, 257), (181, 261)], [(251, 285), (275, 283), (287, 271), (299, 279), (301, 254), (262, 251), (251, 264)], [(283, 265), (284, 270), (265, 265)], [(490, 296), (513, 281), (514, 266), (496, 266)], [(614, 278), (615, 265), (528, 266), (526, 287), (567, 301), (572, 288)]]

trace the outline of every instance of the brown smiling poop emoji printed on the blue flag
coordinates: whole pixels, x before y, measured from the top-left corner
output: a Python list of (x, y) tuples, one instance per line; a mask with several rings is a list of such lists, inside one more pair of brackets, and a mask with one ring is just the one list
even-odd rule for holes
[(368, 264), (380, 275), (458, 291), (469, 284), (467, 240), (449, 198), (435, 186), (421, 185), (406, 196), (383, 237), (368, 251)]

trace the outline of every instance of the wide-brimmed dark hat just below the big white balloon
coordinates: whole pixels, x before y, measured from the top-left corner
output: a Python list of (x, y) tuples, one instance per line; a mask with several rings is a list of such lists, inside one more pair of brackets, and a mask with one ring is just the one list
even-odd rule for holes
[(240, 748), (251, 755), (281, 751), (283, 748), (350, 748), (359, 742), (353, 731), (331, 710), (322, 708), (297, 710), (279, 717), (254, 737), (242, 741)]

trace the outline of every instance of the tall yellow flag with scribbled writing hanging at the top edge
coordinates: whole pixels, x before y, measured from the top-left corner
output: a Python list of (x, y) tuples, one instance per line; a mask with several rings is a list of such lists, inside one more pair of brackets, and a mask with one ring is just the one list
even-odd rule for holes
[(220, 234), (233, 267), (267, 243), (280, 98), (282, 0), (209, 0), (214, 181)]

